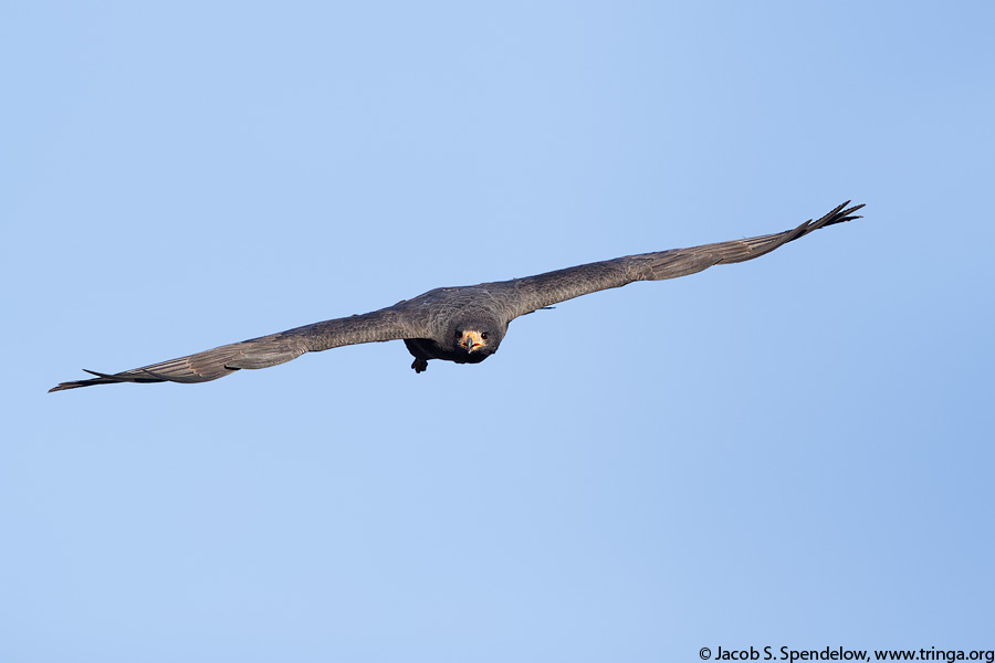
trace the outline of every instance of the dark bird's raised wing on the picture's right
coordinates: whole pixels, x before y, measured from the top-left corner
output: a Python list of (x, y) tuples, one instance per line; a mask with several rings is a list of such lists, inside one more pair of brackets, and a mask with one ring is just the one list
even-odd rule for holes
[(842, 203), (817, 221), (808, 220), (798, 228), (775, 234), (703, 244), (690, 249), (671, 249), (658, 253), (627, 255), (516, 278), (507, 282), (514, 286), (516, 292), (514, 314), (515, 316), (524, 315), (557, 302), (611, 287), (620, 287), (636, 281), (677, 278), (701, 272), (712, 265), (753, 260), (819, 228), (859, 219), (860, 217), (853, 215), (853, 212), (863, 206), (858, 204), (845, 209), (848, 204), (849, 201)]

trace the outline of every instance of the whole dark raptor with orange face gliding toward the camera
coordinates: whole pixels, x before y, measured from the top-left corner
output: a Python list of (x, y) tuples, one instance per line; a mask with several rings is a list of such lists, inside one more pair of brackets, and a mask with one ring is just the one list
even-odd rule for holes
[(371, 313), (305, 325), (142, 368), (117, 373), (86, 370), (95, 377), (62, 382), (49, 391), (115, 382), (207, 382), (242, 368), (276, 366), (304, 352), (383, 340), (404, 340), (415, 357), (411, 368), (416, 372), (426, 370), (429, 359), (479, 364), (498, 351), (509, 323), (519, 316), (636, 281), (675, 278), (712, 265), (760, 257), (814, 230), (859, 219), (853, 212), (863, 206), (848, 204), (775, 234), (627, 255), (511, 281), (440, 287)]

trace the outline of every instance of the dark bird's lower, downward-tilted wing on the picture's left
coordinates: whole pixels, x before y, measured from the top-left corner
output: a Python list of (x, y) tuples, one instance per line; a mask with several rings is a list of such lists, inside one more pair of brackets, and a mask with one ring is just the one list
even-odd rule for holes
[(377, 340), (423, 338), (431, 333), (423, 317), (417, 308), (401, 302), (373, 313), (305, 325), (118, 373), (87, 370), (96, 377), (62, 382), (49, 391), (114, 382), (207, 382), (241, 368), (276, 366), (304, 352)]

